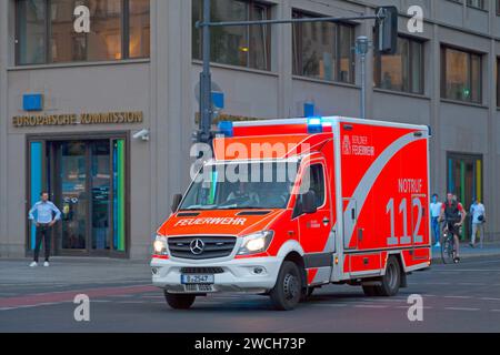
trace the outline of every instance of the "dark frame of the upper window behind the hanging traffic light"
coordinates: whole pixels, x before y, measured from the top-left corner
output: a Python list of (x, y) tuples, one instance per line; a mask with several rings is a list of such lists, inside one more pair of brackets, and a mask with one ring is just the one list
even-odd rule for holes
[[(408, 88), (409, 90), (397, 90), (397, 89), (386, 89), (386, 88), (381, 88), (381, 83), (382, 83), (382, 55), (380, 52), (378, 52), (377, 50), (373, 52), (373, 57), (374, 57), (374, 63), (373, 63), (373, 75), (374, 75), (374, 87), (377, 89), (380, 90), (388, 90), (388, 91), (393, 91), (393, 92), (402, 92), (402, 93), (409, 93), (409, 94), (413, 94), (413, 95), (424, 95), (426, 94), (426, 40), (422, 40), (420, 38), (416, 38), (416, 37), (411, 37), (411, 36), (404, 36), (404, 34), (398, 34), (398, 39), (402, 39), (402, 40), (407, 40), (408, 41), (408, 49), (409, 49), (409, 54), (408, 54), (408, 69), (409, 69), (409, 79), (408, 79)], [(414, 75), (411, 72), (411, 68), (413, 64), (413, 61), (416, 59), (414, 53), (413, 53), (413, 47), (411, 45), (412, 42), (418, 43), (421, 45), (422, 49), (422, 61), (421, 61), (421, 65), (420, 65), (420, 70), (419, 70), (419, 80), (421, 82), (421, 88), (420, 88), (420, 92), (412, 92), (411, 88), (413, 87), (413, 81), (416, 78), (413, 78)]]

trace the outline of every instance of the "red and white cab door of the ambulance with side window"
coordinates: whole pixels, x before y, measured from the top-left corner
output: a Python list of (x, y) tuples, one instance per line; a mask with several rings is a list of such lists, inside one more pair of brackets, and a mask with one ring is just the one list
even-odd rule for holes
[[(296, 215), (299, 222), (300, 244), (304, 251), (309, 284), (329, 282), (333, 265), (334, 241), (327, 165), (323, 160), (312, 161), (303, 169), (301, 193), (312, 191), (316, 195), (316, 213), (301, 213), (299, 196)], [(307, 190), (307, 191), (306, 191)]]

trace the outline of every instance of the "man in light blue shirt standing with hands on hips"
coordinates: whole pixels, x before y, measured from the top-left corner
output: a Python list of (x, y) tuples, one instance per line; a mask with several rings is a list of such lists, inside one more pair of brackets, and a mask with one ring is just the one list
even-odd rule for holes
[[(40, 255), (40, 247), (42, 239), (46, 247), (46, 262), (43, 266), (49, 266), (50, 257), (50, 232), (54, 224), (61, 219), (61, 211), (49, 201), (49, 193), (43, 191), (41, 193), (41, 201), (37, 202), (30, 210), (29, 219), (34, 222), (37, 226), (37, 240), (34, 244), (34, 261), (30, 264), (31, 267), (38, 266), (38, 258)], [(37, 216), (34, 216), (34, 213)], [(56, 214), (56, 216), (53, 216)]]

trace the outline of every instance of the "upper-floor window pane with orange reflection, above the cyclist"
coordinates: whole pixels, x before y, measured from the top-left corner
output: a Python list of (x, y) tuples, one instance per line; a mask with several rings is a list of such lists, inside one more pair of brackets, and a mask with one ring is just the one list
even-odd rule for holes
[(482, 57), (448, 47), (441, 48), (443, 99), (482, 102)]

